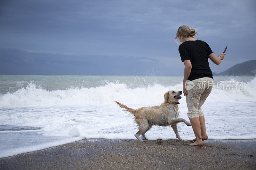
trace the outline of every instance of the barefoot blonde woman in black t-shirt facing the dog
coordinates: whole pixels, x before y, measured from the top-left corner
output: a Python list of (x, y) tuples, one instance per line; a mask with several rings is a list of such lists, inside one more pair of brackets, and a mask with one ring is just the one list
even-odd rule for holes
[[(203, 140), (207, 140), (208, 136), (206, 134), (204, 114), (201, 107), (212, 91), (213, 85), (212, 71), (209, 67), (208, 57), (213, 63), (220, 64), (221, 60), (225, 58), (225, 53), (216, 57), (206, 42), (194, 38), (196, 34), (195, 29), (185, 25), (180, 26), (176, 33), (175, 42), (178, 39), (181, 42), (179, 46), (180, 58), (185, 64), (183, 93), (186, 96), (188, 118), (196, 136), (193, 139), (195, 142), (190, 145), (202, 146)], [(194, 83), (194, 88), (186, 86), (188, 85), (187, 83), (189, 85), (193, 85)]]

